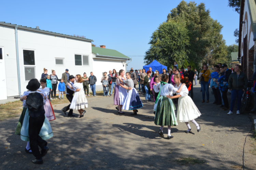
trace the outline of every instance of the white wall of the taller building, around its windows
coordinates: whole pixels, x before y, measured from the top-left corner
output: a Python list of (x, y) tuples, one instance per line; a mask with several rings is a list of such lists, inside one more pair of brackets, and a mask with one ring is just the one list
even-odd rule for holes
[[(17, 64), (15, 50), (15, 34), (14, 28), (0, 27), (0, 46), (4, 47), (6, 80), (7, 80), (7, 96), (18, 96), (17, 81)], [(69, 73), (83, 75), (84, 72), (93, 70), (93, 59), (91, 53), (91, 43), (71, 38), (52, 36), (42, 33), (18, 29), (18, 48), (19, 48), (19, 67), (21, 92), (26, 91), (28, 81), (25, 81), (23, 50), (35, 51), (35, 70), (36, 78), (39, 80), (43, 73), (43, 68), (56, 71), (58, 78), (61, 78), (65, 69), (69, 69)], [(6, 55), (9, 53), (9, 56)], [(75, 66), (75, 54), (84, 54), (89, 56), (89, 66)], [(65, 65), (55, 65), (55, 58), (64, 58)], [(88, 74), (88, 73), (87, 73)]]

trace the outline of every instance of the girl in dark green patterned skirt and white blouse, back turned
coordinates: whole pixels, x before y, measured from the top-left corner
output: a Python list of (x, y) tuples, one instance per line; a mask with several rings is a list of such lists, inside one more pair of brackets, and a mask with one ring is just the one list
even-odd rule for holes
[(180, 92), (181, 89), (177, 90), (173, 87), (172, 84), (168, 84), (168, 75), (163, 74), (161, 78), (161, 87), (159, 90), (159, 94), (157, 96), (157, 103), (155, 109), (155, 124), (160, 125), (161, 128), (159, 130), (159, 135), (161, 137), (165, 137), (163, 135), (163, 126), (168, 126), (168, 138), (171, 139), (171, 126), (178, 125), (175, 117), (175, 106), (172, 103), (171, 99), (168, 99), (167, 96), (172, 96), (176, 91)]

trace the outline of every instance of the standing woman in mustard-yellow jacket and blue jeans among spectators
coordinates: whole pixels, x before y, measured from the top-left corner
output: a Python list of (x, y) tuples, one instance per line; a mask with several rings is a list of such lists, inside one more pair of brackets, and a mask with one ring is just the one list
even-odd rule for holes
[(210, 70), (208, 70), (208, 66), (206, 64), (203, 65), (203, 70), (201, 71), (203, 73), (201, 75), (201, 89), (202, 89), (202, 95), (203, 95), (203, 101), (202, 103), (205, 102), (205, 92), (206, 92), (206, 97), (207, 97), (207, 102), (209, 103), (209, 76), (211, 75)]

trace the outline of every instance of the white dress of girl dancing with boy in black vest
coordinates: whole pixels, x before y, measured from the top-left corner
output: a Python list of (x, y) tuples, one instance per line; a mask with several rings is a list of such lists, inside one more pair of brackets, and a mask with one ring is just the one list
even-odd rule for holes
[(70, 108), (73, 110), (88, 108), (88, 102), (87, 102), (86, 96), (84, 94), (83, 83), (74, 83), (72, 86), (74, 89), (81, 89), (81, 90), (75, 91)]

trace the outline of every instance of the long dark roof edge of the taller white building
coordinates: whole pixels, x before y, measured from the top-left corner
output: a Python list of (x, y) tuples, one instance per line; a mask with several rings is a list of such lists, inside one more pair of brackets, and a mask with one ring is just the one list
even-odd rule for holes
[[(17, 26), (17, 24), (5, 23), (5, 22), (0, 22), (0, 25), (9, 26), (9, 27), (16, 27)], [(93, 41), (92, 39), (80, 38), (80, 37), (76, 37), (76, 36), (72, 36), (72, 35), (60, 34), (60, 33), (56, 33), (56, 32), (45, 31), (45, 30), (35, 29), (35, 28), (31, 28), (31, 27), (26, 27), (26, 26), (17, 26), (17, 27), (20, 28), (20, 29), (25, 29), (25, 30), (35, 31), (35, 32), (41, 32), (41, 33), (51, 34), (51, 35), (55, 35), (55, 36), (69, 37), (69, 38), (73, 38), (73, 39), (80, 39), (80, 40), (83, 40), (83, 41), (90, 41), (90, 42)]]

